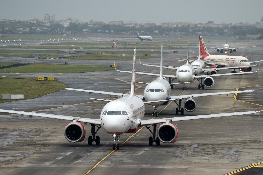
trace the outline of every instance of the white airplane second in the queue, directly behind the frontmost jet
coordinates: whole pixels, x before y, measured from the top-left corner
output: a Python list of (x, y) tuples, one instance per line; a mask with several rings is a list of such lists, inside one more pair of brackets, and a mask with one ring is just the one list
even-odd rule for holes
[[(114, 62), (115, 64), (115, 62)], [(217, 92), (217, 93), (203, 93), (203, 94), (191, 94), (191, 95), (181, 95), (181, 96), (171, 96), (171, 85), (174, 84), (182, 84), (182, 83), (173, 83), (170, 84), (165, 78), (163, 78), (163, 45), (161, 46), (161, 59), (160, 59), (160, 74), (159, 77), (155, 80), (153, 80), (150, 83), (145, 82), (136, 82), (136, 83), (144, 83), (147, 84), (144, 89), (144, 96), (140, 96), (141, 99), (145, 100), (146, 102), (149, 101), (155, 101), (154, 103), (148, 103), (149, 105), (152, 105), (154, 108), (153, 116), (158, 116), (157, 108), (159, 105), (167, 105), (168, 101), (163, 102), (160, 100), (169, 100), (169, 99), (177, 99), (173, 100), (177, 105), (178, 108), (175, 109), (175, 115), (177, 115), (179, 112), (183, 115), (184, 109), (187, 112), (193, 112), (196, 109), (196, 101), (193, 99), (194, 97), (204, 97), (204, 96), (213, 96), (213, 95), (221, 95), (221, 94), (231, 94), (231, 93), (242, 93), (243, 91), (231, 91), (231, 92)], [(117, 70), (115, 68), (115, 70)], [(131, 71), (122, 71), (117, 70), (119, 72), (129, 72)], [(67, 88), (68, 89), (68, 88)], [(86, 92), (89, 92), (86, 91)], [(181, 108), (181, 100), (186, 99), (184, 102), (184, 108)], [(171, 100), (172, 101), (172, 100)], [(179, 101), (179, 104), (177, 103)]]

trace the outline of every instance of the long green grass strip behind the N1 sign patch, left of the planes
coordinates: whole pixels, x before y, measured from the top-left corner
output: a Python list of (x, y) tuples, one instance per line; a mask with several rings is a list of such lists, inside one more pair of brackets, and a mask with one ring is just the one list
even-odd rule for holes
[[(114, 63), (112, 63), (114, 64)], [(6, 73), (83, 73), (113, 70), (114, 67), (97, 65), (60, 65), (60, 64), (29, 64), (6, 68)], [(3, 72), (3, 69), (0, 69)]]

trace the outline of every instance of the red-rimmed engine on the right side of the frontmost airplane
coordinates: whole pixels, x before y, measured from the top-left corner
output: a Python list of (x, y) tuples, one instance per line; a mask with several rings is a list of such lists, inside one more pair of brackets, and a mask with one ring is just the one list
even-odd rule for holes
[(163, 143), (174, 143), (178, 138), (178, 128), (172, 123), (163, 123), (157, 130), (157, 136)]

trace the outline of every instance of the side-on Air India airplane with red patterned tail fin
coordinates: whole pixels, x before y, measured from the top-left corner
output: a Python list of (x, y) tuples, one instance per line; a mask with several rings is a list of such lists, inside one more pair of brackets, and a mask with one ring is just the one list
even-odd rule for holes
[[(231, 73), (236, 73), (236, 69), (239, 69), (240, 72), (250, 72), (252, 70), (252, 67), (250, 63), (259, 62), (259, 61), (252, 61), (249, 62), (249, 60), (243, 56), (230, 56), (230, 55), (210, 55), (208, 53), (208, 50), (206, 49), (204, 40), (202, 36), (199, 36), (200, 40), (200, 47), (199, 52), (200, 56), (203, 61), (211, 61), (211, 63), (206, 63), (212, 67), (220, 68), (220, 67), (231, 67), (233, 69)], [(233, 68), (232, 68), (233, 67)], [(238, 68), (236, 68), (238, 67)]]

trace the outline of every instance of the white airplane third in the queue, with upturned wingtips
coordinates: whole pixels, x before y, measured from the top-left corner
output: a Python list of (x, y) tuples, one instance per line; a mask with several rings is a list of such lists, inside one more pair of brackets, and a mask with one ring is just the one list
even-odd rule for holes
[[(200, 52), (201, 53), (201, 52)], [(204, 61), (204, 60), (203, 60)], [(206, 61), (206, 60), (205, 60)], [(144, 66), (154, 66), (154, 67), (160, 67), (157, 65), (149, 65), (149, 64), (142, 64)], [(213, 65), (215, 66), (215, 65)], [(171, 66), (163, 66), (164, 68), (171, 68)], [(247, 66), (245, 66), (247, 67)], [(212, 75), (195, 75), (195, 70), (192, 65), (189, 64), (189, 41), (188, 41), (188, 49), (187, 49), (187, 60), (186, 64), (176, 67), (176, 75), (163, 75), (163, 77), (169, 78), (169, 83), (173, 82), (174, 79), (177, 79), (178, 82), (183, 84), (183, 90), (186, 90), (185, 83), (191, 83), (196, 79), (200, 84), (198, 84), (198, 89), (204, 87), (212, 87), (214, 86), (214, 79), (212, 77), (218, 77), (218, 76), (225, 76), (225, 75), (240, 75), (240, 73), (221, 73), (221, 74), (212, 74)], [(252, 68), (251, 68), (252, 69)], [(120, 71), (120, 70), (117, 70)], [(257, 70), (258, 71), (258, 70)], [(254, 71), (254, 72), (257, 72)], [(122, 72), (130, 72), (130, 71), (122, 71)], [(246, 73), (254, 73), (254, 72), (244, 72)], [(244, 74), (242, 73), (242, 74)], [(136, 74), (143, 74), (143, 75), (151, 75), (151, 76), (160, 76), (160, 74), (157, 73), (146, 73), (146, 72), (136, 72)], [(173, 88), (173, 85), (171, 85), (171, 88)]]

